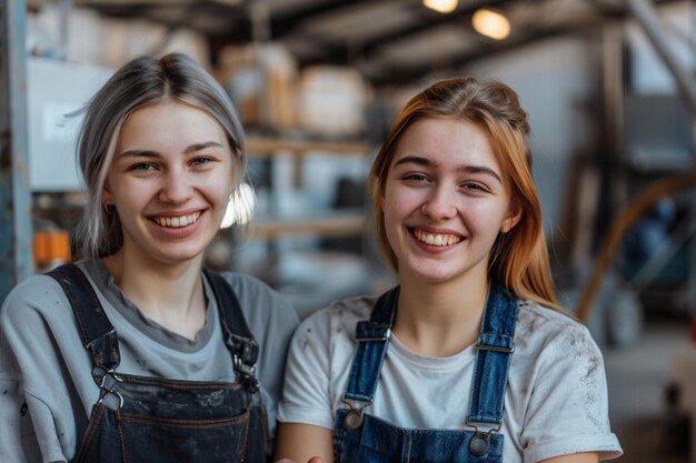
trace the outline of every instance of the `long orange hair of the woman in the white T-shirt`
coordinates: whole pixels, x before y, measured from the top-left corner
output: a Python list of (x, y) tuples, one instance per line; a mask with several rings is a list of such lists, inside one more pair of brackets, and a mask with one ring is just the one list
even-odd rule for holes
[(385, 231), (382, 209), (385, 183), (404, 132), (417, 120), (446, 118), (477, 123), (491, 137), (503, 171), (511, 185), (511, 198), (521, 211), (519, 222), (499, 233), (489, 255), (489, 276), (520, 299), (560, 309), (550, 275), (548, 250), (541, 230), (541, 205), (531, 178), (531, 157), (526, 144), (527, 113), (517, 93), (497, 81), (459, 78), (439, 81), (414, 97), (397, 117), (369, 174), (375, 210), (377, 244), (394, 270), (397, 256)]

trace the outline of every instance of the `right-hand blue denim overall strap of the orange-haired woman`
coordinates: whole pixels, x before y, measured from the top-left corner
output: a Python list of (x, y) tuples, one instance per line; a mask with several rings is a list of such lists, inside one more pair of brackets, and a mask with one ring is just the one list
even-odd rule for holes
[(517, 300), (495, 281), (488, 289), (481, 331), (476, 342), (476, 366), (467, 424), (497, 430), (503, 422), (505, 389), (517, 322)]

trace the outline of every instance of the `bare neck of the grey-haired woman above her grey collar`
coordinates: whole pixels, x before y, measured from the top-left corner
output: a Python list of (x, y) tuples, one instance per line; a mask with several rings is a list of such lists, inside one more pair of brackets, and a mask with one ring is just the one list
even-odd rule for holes
[(206, 322), (206, 298), (201, 281), (202, 260), (179, 265), (153, 265), (118, 253), (103, 264), (123, 294), (150, 320), (188, 339)]

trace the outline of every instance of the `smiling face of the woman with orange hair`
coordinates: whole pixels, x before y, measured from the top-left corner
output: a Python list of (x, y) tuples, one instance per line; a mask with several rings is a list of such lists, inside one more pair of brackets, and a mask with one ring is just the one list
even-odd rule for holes
[(485, 283), (498, 233), (519, 220), (488, 132), (425, 118), (401, 135), (382, 198), (401, 281)]

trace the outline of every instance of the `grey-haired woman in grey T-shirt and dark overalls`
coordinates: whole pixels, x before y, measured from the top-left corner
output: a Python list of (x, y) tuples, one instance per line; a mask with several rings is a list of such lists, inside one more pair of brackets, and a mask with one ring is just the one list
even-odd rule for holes
[(297, 315), (203, 269), (246, 165), (229, 97), (183, 54), (137, 58), (89, 102), (78, 155), (82, 258), (0, 313), (0, 461), (266, 461)]

